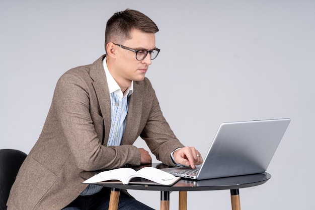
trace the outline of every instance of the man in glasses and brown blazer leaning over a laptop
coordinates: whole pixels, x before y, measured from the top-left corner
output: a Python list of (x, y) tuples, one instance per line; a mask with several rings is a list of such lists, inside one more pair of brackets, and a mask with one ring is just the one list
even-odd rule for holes
[[(202, 163), (163, 117), (145, 73), (159, 53), (154, 22), (125, 10), (107, 22), (106, 55), (58, 80), (42, 133), (24, 161), (9, 210), (107, 209), (110, 190), (85, 185), (79, 173), (151, 163), (138, 136), (164, 164)], [(119, 209), (151, 209), (121, 193)]]

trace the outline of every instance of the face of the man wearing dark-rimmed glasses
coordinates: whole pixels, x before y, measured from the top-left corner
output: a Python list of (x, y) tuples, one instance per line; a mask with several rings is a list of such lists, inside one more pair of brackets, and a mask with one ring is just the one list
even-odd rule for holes
[[(117, 43), (132, 49), (151, 50), (155, 47), (155, 35), (153, 33), (143, 33), (139, 30), (132, 30), (131, 39), (124, 43)], [(115, 80), (127, 83), (131, 81), (142, 81), (148, 66), (151, 64), (150, 54), (148, 53), (143, 60), (136, 59), (136, 53), (116, 46), (116, 71)]]

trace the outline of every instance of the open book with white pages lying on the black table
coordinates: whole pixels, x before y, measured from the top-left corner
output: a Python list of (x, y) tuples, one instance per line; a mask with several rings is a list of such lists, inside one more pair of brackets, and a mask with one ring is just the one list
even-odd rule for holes
[[(143, 181), (143, 179), (148, 180)], [(83, 183), (93, 184), (104, 181), (118, 180), (122, 184), (152, 184), (152, 185), (173, 185), (180, 177), (153, 167), (144, 167), (136, 171), (132, 168), (118, 168), (100, 172)]]

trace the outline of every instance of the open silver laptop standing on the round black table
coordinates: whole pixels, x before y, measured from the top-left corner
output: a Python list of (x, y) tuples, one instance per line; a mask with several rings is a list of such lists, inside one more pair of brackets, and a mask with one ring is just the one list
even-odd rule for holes
[(161, 170), (197, 180), (263, 173), (289, 123), (288, 118), (222, 123), (201, 167)]

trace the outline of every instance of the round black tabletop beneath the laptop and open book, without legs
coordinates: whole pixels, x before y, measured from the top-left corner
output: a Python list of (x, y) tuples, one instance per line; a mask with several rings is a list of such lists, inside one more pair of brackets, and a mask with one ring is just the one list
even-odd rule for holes
[[(165, 168), (163, 164), (152, 164), (150, 165), (156, 168)], [(84, 179), (88, 179), (98, 172), (81, 172), (80, 176)], [(135, 180), (132, 184), (121, 184), (119, 182), (98, 182), (98, 185), (110, 188), (118, 189), (135, 189), (135, 190), (156, 190), (156, 191), (202, 191), (202, 190), (224, 190), (224, 189), (240, 189), (246, 187), (253, 187), (264, 184), (271, 178), (269, 173), (261, 174), (250, 174), (243, 176), (223, 177), (216, 179), (205, 179), (205, 180), (191, 180), (181, 178), (172, 186), (165, 185), (154, 185), (141, 183), (141, 179)], [(137, 184), (141, 183), (141, 184)], [(147, 183), (147, 181), (145, 182)]]

